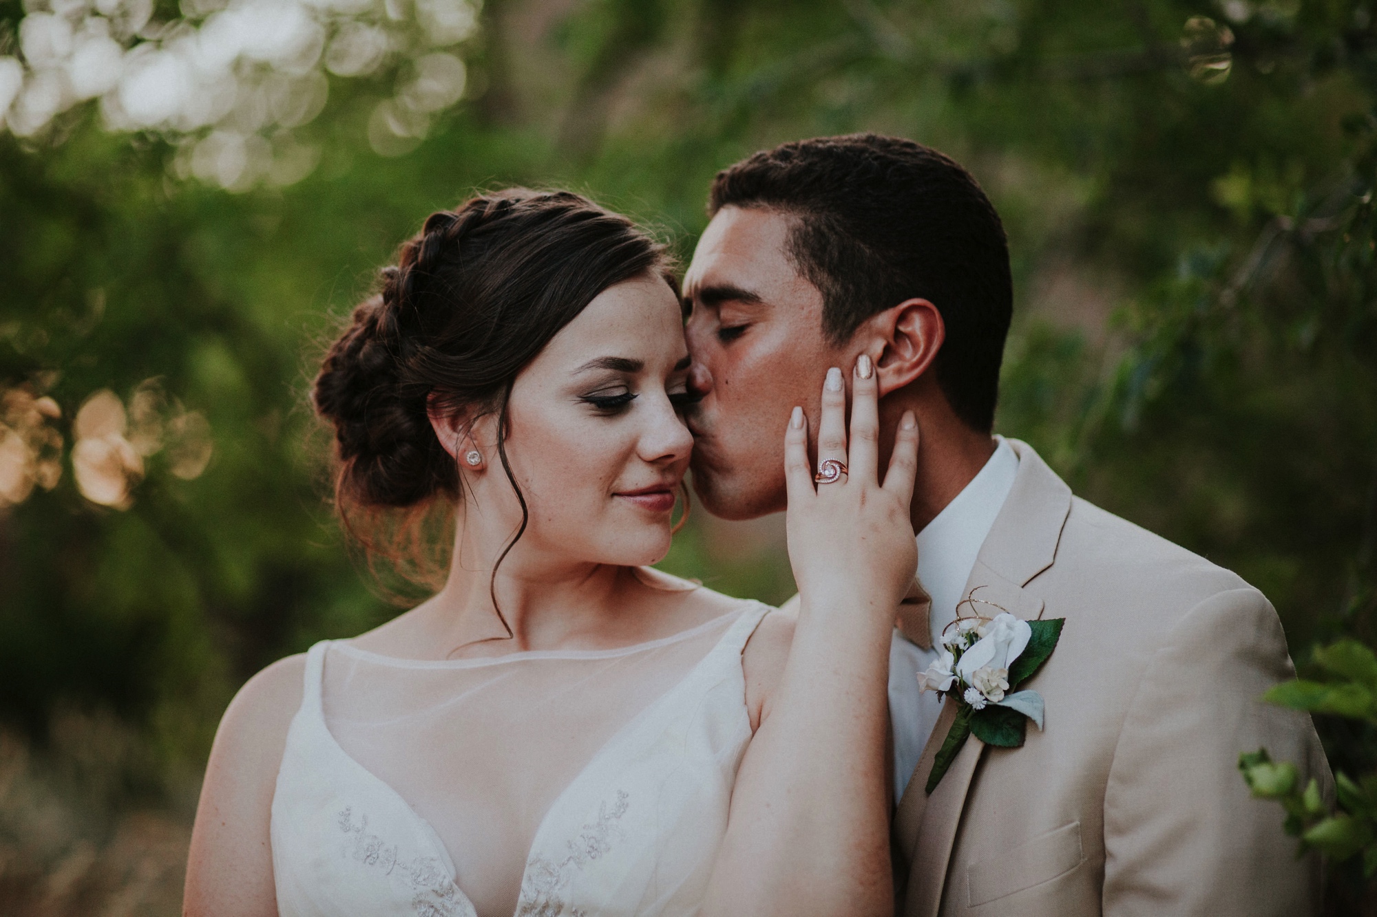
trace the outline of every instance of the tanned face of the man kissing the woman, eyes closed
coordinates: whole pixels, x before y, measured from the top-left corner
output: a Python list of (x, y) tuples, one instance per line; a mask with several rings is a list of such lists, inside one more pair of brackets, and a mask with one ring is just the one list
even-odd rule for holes
[(752, 519), (785, 508), (784, 432), (800, 405), (818, 428), (829, 366), (845, 354), (822, 335), (822, 293), (790, 259), (793, 218), (726, 207), (684, 277), (694, 492), (709, 512)]

